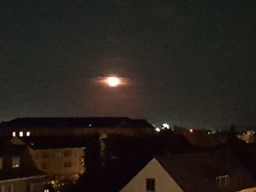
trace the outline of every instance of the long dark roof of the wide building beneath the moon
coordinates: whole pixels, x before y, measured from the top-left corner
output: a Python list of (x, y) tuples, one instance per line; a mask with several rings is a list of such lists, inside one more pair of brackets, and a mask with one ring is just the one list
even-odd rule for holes
[(131, 118), (17, 118), (0, 123), (2, 127), (42, 128), (42, 127), (80, 127), (80, 128), (153, 128), (143, 119)]

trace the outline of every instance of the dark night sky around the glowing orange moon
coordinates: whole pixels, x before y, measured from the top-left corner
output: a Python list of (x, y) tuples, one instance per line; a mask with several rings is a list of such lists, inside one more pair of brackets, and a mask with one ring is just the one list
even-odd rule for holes
[[(256, 125), (255, 0), (0, 4), (0, 120)], [(98, 85), (109, 74), (129, 84)]]

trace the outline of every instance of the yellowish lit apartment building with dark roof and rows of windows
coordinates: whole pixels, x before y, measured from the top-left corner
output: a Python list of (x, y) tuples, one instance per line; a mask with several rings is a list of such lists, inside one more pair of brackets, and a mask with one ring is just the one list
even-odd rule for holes
[(81, 146), (79, 142), (56, 138), (23, 141), (29, 145), (29, 152), (37, 169), (45, 172), (50, 180), (75, 182), (86, 170), (86, 147)]

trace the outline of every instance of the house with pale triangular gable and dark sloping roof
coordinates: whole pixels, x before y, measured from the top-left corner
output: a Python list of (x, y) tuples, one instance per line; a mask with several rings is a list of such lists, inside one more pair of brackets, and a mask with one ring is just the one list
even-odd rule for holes
[(215, 151), (153, 158), (120, 191), (231, 192), (255, 186), (232, 154)]

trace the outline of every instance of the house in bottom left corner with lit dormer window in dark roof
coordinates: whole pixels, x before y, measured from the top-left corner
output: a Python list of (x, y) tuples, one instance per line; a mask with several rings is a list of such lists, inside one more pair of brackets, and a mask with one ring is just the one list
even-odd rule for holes
[(43, 192), (46, 175), (40, 172), (24, 145), (1, 145), (0, 191)]

